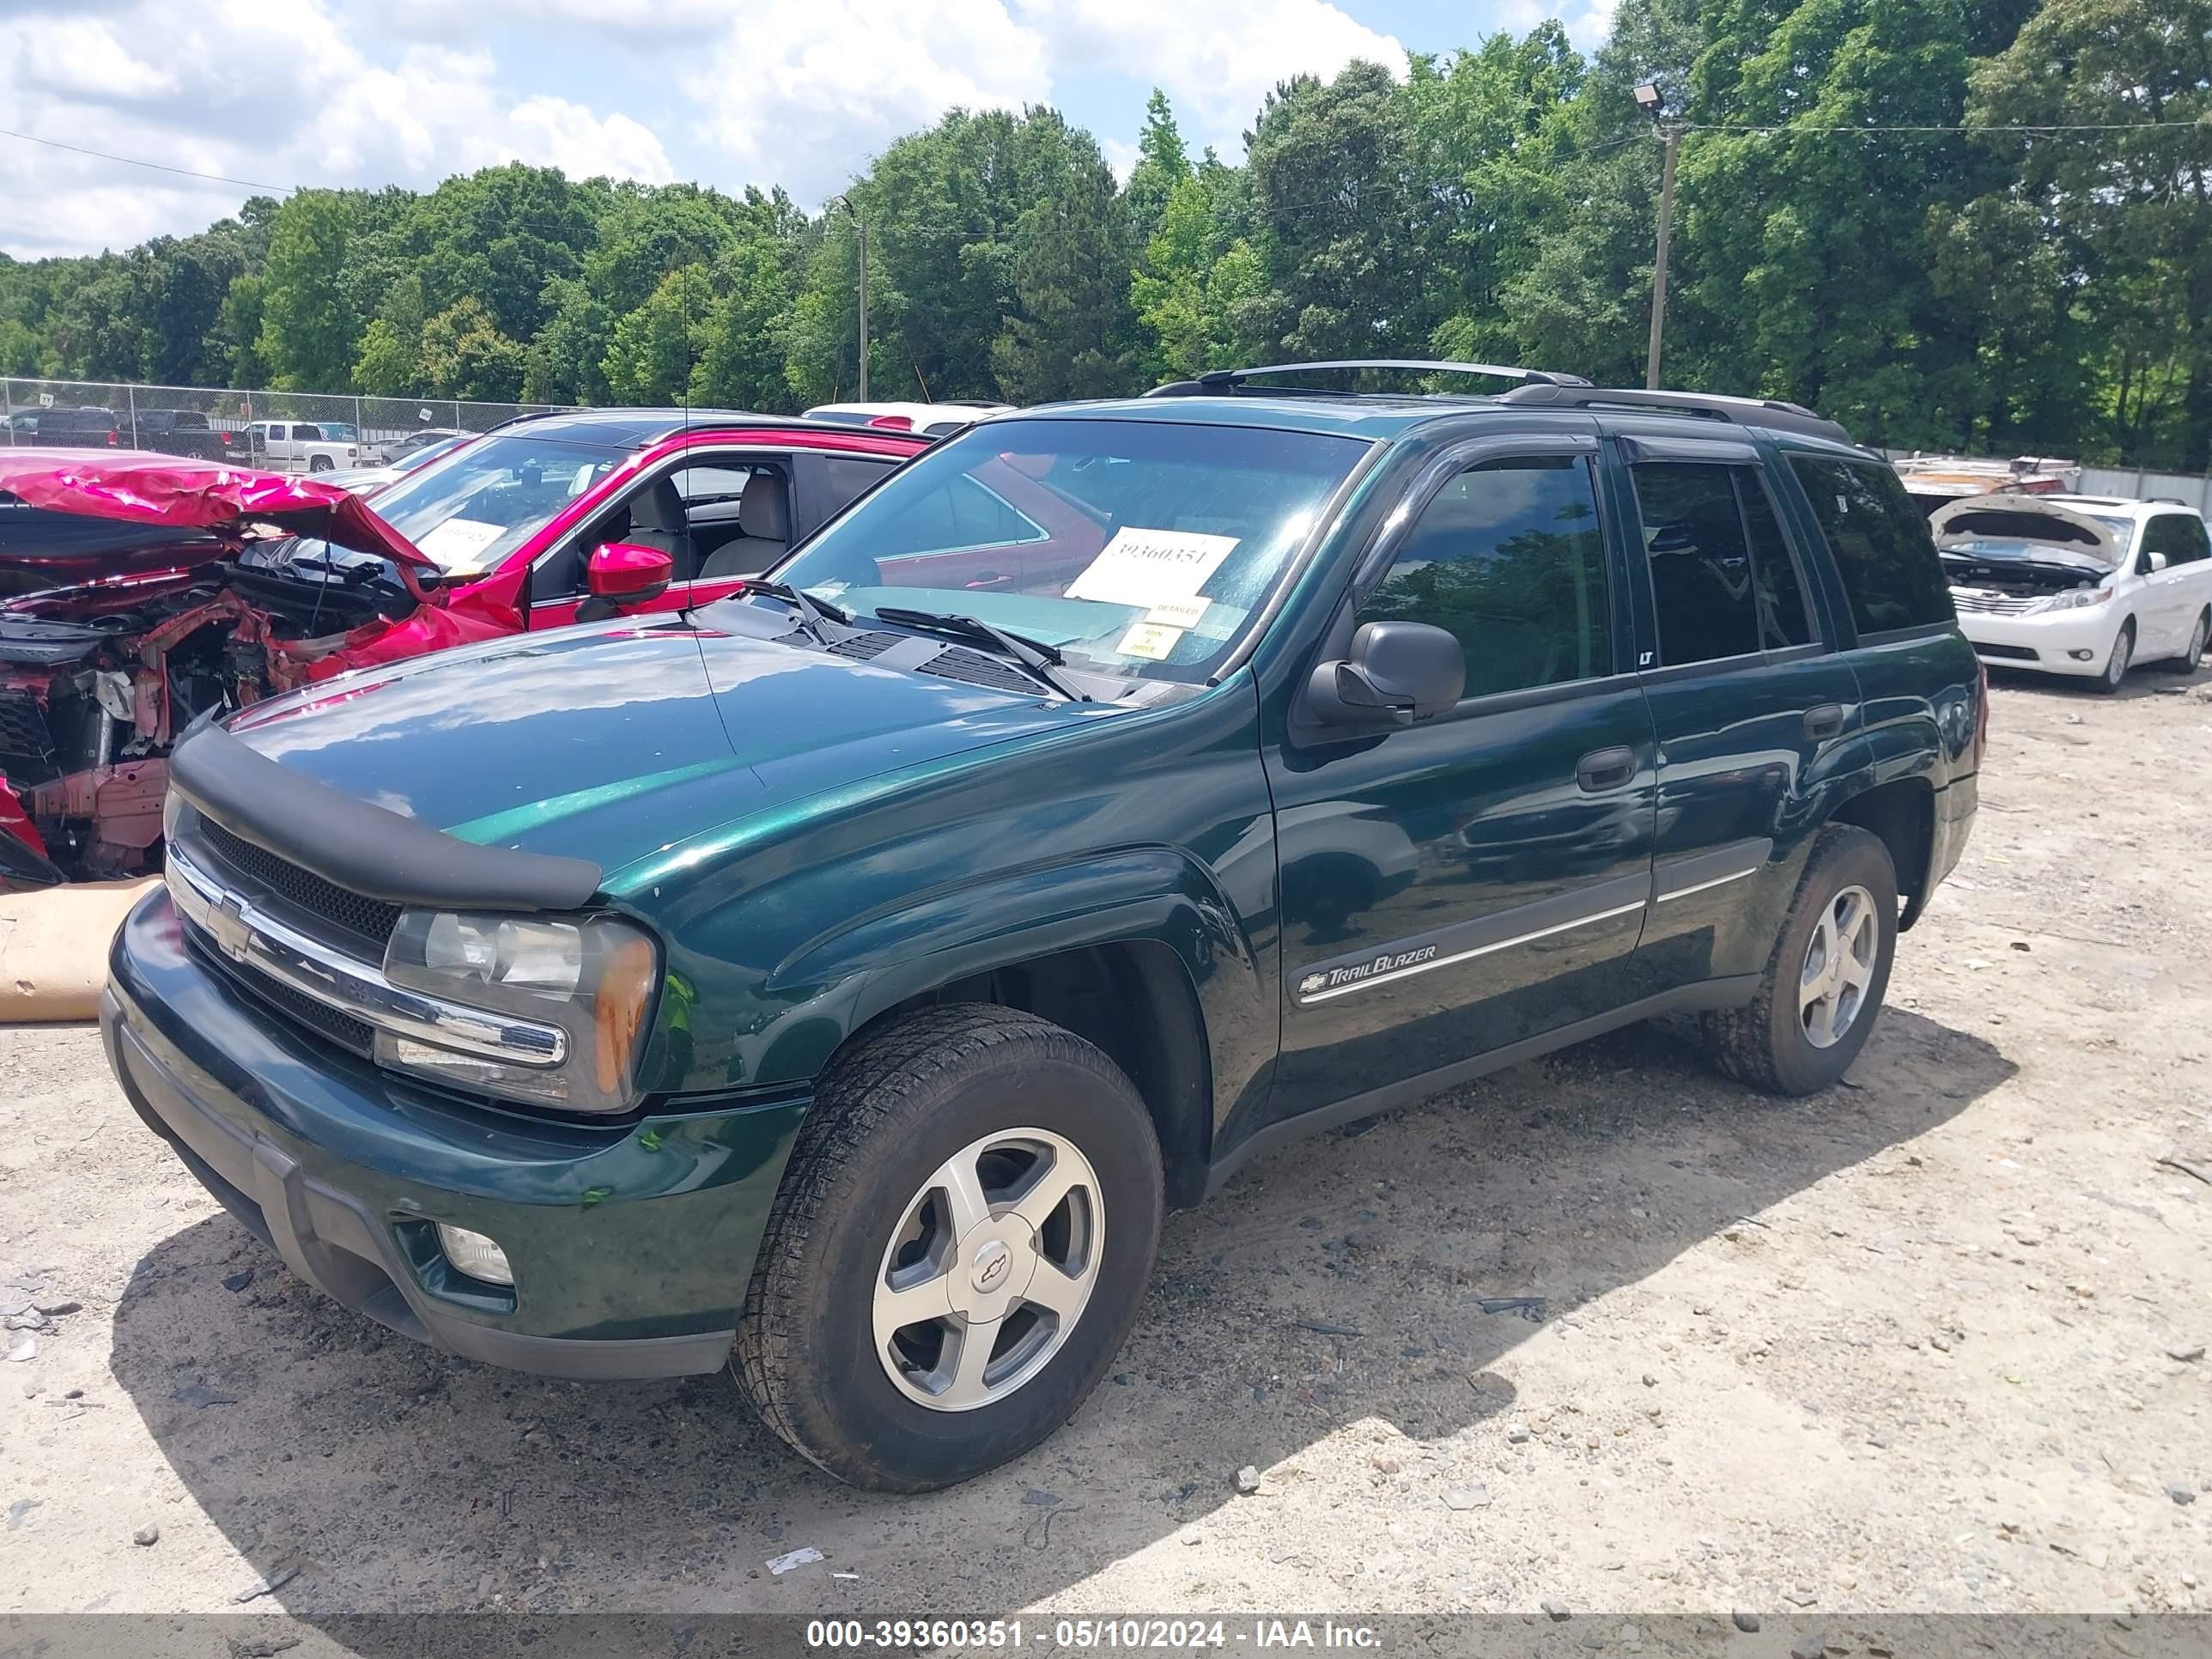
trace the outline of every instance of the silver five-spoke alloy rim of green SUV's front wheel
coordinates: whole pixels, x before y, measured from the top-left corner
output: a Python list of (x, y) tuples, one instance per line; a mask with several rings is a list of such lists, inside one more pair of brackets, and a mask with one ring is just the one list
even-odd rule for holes
[(891, 1230), (874, 1290), (876, 1358), (931, 1411), (1029, 1383), (1091, 1301), (1106, 1206), (1064, 1135), (984, 1135), (940, 1164)]

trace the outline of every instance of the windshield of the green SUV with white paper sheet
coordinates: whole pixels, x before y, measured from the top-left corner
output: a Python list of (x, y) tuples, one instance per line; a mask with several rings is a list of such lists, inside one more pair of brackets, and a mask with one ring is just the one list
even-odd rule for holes
[(1367, 445), (1168, 420), (993, 420), (929, 449), (776, 568), (869, 617), (978, 617), (1104, 675), (1199, 681)]

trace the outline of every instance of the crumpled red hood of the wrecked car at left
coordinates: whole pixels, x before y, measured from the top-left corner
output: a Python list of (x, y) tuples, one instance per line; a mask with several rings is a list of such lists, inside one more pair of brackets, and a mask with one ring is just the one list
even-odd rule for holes
[(144, 451), (0, 449), (0, 489), (27, 507), (168, 529), (276, 524), (418, 571), (436, 562), (336, 484)]

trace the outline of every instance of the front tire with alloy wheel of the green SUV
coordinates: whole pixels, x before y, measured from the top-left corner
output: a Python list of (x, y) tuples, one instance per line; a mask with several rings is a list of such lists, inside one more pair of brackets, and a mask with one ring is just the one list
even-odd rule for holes
[(1159, 1141), (1082, 1037), (947, 1004), (823, 1073), (732, 1365), (794, 1451), (933, 1491), (1022, 1455), (1113, 1365), (1161, 1219)]

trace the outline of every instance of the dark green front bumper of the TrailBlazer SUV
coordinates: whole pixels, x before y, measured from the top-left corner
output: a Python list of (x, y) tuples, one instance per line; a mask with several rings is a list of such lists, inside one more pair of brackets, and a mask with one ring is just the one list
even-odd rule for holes
[[(542, 1376), (723, 1365), (805, 1110), (575, 1126), (453, 1102), (265, 1011), (186, 942), (164, 891), (115, 936), (100, 1029), (146, 1126), (307, 1283)], [(438, 1221), (495, 1239), (515, 1285), (453, 1272)]]

